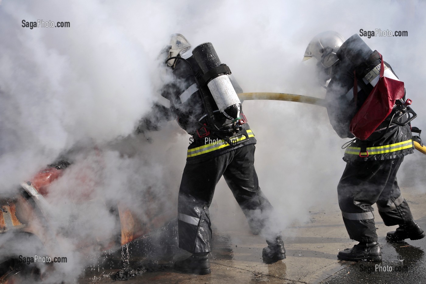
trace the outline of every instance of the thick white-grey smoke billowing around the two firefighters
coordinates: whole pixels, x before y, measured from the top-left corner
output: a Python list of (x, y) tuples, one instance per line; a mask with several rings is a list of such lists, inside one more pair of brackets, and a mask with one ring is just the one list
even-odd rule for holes
[[(153, 143), (144, 136), (127, 137), (159, 96), (167, 71), (159, 67), (158, 55), (176, 32), (193, 45), (212, 42), (245, 92), (323, 98), (325, 90), (313, 77), (314, 59), (300, 62), (314, 35), (324, 30), (336, 30), (344, 38), (360, 29), (408, 31), (408, 37), (363, 40), (379, 50), (405, 82), (419, 114), (413, 125), (426, 129), (422, 113), (426, 4), (371, 5), (370, 1), (3, 0), (0, 194), (14, 192), (21, 180), (61, 153), (83, 149), (72, 152), (74, 164), (52, 185), (54, 192), (47, 198), (57, 216), (53, 227), (58, 232), (70, 229), (64, 228), (70, 218), (77, 220), (74, 234), (63, 237), (65, 250), (72, 250), (81, 239), (99, 237), (99, 232), (107, 236), (117, 230), (119, 224), (109, 212), (117, 201), (146, 218), (139, 204), (148, 189), (155, 192), (158, 206), (176, 210), (189, 136), (170, 122), (161, 131), (146, 134)], [(29, 29), (21, 26), (22, 20), (66, 21), (71, 27)], [(243, 107), (258, 140), (259, 182), (280, 216), (278, 226), (284, 230), (294, 220), (305, 220), (309, 206), (337, 202), (336, 185), (345, 166), (340, 145), (346, 140), (334, 133), (325, 109), (271, 101), (246, 101)], [(95, 145), (101, 149), (100, 158), (92, 150)], [(423, 161), (418, 153), (410, 155), (401, 171), (406, 172), (403, 180), (422, 192), (425, 187), (418, 185), (425, 180)], [(81, 183), (81, 172), (94, 178), (90, 188)], [(87, 191), (91, 199), (102, 202), (79, 206), (75, 196)], [(236, 206), (223, 181), (215, 203), (223, 210)], [(221, 214), (213, 219), (222, 222)], [(66, 270), (69, 278), (85, 264), (83, 255), (73, 258), (75, 269)]]

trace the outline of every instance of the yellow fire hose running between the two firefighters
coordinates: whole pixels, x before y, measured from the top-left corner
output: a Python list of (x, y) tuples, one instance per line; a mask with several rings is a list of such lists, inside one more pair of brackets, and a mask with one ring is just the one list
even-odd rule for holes
[[(321, 107), (325, 107), (325, 99), (310, 97), (310, 96), (302, 96), (302, 95), (294, 95), (294, 94), (286, 94), (286, 93), (239, 93), (238, 97), (241, 101), (250, 101), (250, 100), (274, 100), (274, 101), (296, 101), (305, 104), (314, 104), (319, 105)], [(426, 146), (421, 145), (417, 141), (413, 141), (414, 148), (420, 153), (426, 155)]]

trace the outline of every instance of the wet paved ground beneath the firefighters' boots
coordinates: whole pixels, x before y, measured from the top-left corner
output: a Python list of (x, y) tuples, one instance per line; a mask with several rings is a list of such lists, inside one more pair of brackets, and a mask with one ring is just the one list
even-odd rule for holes
[[(422, 228), (426, 228), (426, 194), (405, 190), (404, 197), (413, 216)], [(86, 270), (78, 279), (80, 284), (100, 283), (185, 283), (185, 284), (376, 284), (376, 283), (426, 283), (426, 238), (403, 243), (386, 242), (386, 232), (397, 226), (387, 227), (380, 217), (376, 218), (377, 234), (382, 247), (381, 262), (339, 261), (340, 250), (357, 242), (348, 239), (337, 203), (325, 208), (311, 208), (310, 220), (294, 223), (283, 232), (287, 258), (274, 264), (262, 261), (265, 240), (250, 233), (245, 217), (238, 206), (235, 208), (211, 207), (213, 227), (213, 251), (210, 255), (212, 273), (191, 275), (173, 269), (173, 262), (186, 258), (189, 253), (177, 247), (176, 228), (167, 232), (164, 240), (172, 240), (164, 247), (144, 243), (130, 245), (131, 270), (120, 269), (122, 253), (104, 267)], [(214, 222), (213, 222), (214, 223)], [(155, 237), (155, 239), (158, 239)], [(148, 248), (148, 249), (147, 249)], [(154, 253), (147, 253), (153, 251)], [(132, 277), (117, 279), (117, 272)], [(130, 275), (129, 274), (129, 275)]]

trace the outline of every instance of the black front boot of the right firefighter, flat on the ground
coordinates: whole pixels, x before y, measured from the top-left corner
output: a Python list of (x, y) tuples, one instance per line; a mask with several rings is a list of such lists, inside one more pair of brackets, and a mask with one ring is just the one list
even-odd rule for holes
[(337, 258), (346, 261), (381, 261), (382, 250), (379, 243), (358, 243), (351, 249), (340, 251)]

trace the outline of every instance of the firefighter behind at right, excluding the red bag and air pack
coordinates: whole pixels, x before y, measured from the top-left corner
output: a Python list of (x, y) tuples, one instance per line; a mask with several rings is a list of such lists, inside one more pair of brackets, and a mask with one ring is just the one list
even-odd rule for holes
[[(320, 78), (331, 79), (325, 98), (331, 125), (341, 138), (353, 138), (349, 125), (379, 79), (379, 53), (373, 52), (359, 35), (344, 41), (337, 32), (328, 31), (309, 43), (304, 60), (311, 57), (318, 60)], [(398, 80), (387, 62), (384, 69), (385, 77)], [(337, 185), (337, 194), (349, 237), (360, 243), (339, 252), (339, 259), (382, 259), (371, 207), (374, 203), (386, 226), (400, 225), (387, 234), (388, 241), (425, 236), (414, 222), (396, 178), (404, 156), (413, 153), (410, 125), (400, 126), (389, 119), (366, 140), (355, 138), (345, 150), (346, 168)]]

